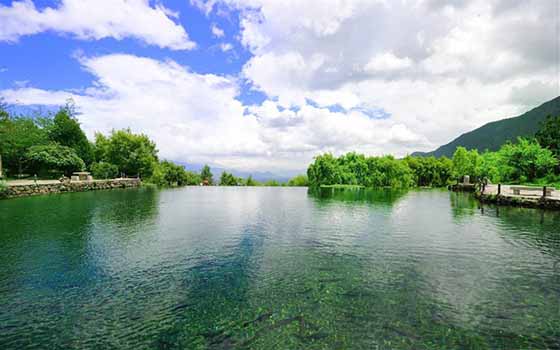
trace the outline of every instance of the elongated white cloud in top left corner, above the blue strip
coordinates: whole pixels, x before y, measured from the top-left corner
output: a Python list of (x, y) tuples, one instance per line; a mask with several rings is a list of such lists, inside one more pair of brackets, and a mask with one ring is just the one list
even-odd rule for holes
[(62, 0), (42, 10), (21, 0), (0, 5), (0, 41), (54, 31), (83, 40), (132, 37), (173, 50), (193, 49), (195, 43), (173, 17), (177, 14), (160, 4), (152, 7), (148, 0)]

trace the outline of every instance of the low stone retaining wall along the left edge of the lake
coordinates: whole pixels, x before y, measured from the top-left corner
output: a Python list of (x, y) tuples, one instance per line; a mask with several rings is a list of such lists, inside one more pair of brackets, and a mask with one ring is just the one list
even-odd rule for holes
[(140, 179), (114, 179), (36, 185), (15, 185), (8, 186), (2, 193), (0, 193), (0, 198), (26, 197), (50, 193), (111, 190), (114, 188), (139, 187), (141, 184), (142, 182)]

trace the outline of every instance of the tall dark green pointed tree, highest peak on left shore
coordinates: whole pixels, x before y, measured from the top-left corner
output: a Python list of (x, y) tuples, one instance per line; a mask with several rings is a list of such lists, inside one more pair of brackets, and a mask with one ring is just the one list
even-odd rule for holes
[(73, 148), (86, 165), (90, 165), (94, 161), (93, 147), (82, 131), (76, 115), (76, 108), (69, 101), (55, 114), (52, 125), (48, 128), (49, 139)]

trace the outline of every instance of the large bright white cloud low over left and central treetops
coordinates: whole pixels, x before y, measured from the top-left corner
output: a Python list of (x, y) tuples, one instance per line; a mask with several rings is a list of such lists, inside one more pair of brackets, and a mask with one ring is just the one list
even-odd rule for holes
[(131, 127), (152, 137), (165, 158), (243, 170), (302, 171), (320, 152), (402, 152), (426, 142), (404, 124), (359, 110), (333, 112), (313, 103), (285, 109), (270, 100), (244, 106), (235, 79), (197, 74), (174, 61), (125, 54), (79, 60), (95, 77), (82, 92), (24, 86), (0, 96), (22, 105), (72, 98), (90, 137)]

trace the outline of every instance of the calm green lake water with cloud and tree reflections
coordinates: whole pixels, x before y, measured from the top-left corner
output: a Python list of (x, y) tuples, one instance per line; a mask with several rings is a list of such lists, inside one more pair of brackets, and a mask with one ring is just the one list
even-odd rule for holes
[(439, 190), (0, 201), (0, 349), (559, 349), (560, 214)]

